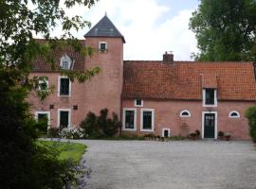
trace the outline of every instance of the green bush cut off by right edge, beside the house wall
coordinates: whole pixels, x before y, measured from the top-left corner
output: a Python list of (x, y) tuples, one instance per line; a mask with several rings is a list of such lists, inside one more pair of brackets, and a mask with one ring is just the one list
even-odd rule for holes
[(256, 143), (256, 106), (249, 107), (245, 115), (248, 119), (250, 137)]

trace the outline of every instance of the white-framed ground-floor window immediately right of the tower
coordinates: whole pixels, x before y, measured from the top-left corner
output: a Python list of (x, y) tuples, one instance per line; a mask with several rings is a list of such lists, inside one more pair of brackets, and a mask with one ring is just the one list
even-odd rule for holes
[(136, 109), (123, 109), (123, 130), (137, 130), (136, 117)]

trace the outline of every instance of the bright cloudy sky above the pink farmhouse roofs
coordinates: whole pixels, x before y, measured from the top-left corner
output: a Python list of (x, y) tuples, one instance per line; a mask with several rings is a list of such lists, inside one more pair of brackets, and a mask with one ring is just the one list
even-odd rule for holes
[[(100, 0), (68, 14), (83, 15), (94, 26), (107, 12), (125, 38), (124, 60), (161, 60), (165, 51), (174, 51), (174, 60), (191, 60), (197, 48), (189, 20), (197, 7), (198, 0)], [(87, 31), (73, 34), (83, 39)]]

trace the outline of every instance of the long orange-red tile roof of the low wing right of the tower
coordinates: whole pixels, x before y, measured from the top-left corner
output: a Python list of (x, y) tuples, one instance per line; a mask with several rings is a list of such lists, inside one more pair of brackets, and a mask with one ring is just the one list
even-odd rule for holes
[(252, 62), (124, 61), (124, 98), (201, 100), (217, 88), (219, 100), (256, 100)]

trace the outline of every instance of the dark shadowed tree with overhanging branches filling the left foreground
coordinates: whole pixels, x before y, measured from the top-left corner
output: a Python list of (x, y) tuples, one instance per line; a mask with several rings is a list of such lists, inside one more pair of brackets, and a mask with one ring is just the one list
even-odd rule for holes
[[(83, 47), (70, 31), (90, 24), (80, 16), (69, 18), (64, 9), (75, 5), (90, 8), (95, 1), (0, 1), (1, 188), (63, 188), (64, 184), (74, 181), (75, 164), (60, 162), (56, 151), (36, 145), (39, 125), (28, 112), (26, 98), (38, 85), (38, 78), (29, 78), (31, 64), (37, 56), (56, 69), (51, 52), (63, 45), (72, 46), (84, 56), (92, 55), (92, 48)], [(58, 39), (50, 38), (57, 24), (63, 26), (63, 34)], [(44, 36), (46, 43), (34, 40), (33, 34)], [(99, 71), (94, 68), (64, 74), (71, 80), (83, 82)]]

